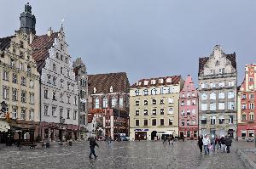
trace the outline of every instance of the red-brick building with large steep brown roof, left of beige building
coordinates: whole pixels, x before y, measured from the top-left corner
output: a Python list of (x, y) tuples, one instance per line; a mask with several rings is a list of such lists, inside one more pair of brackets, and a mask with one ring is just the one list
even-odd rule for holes
[[(90, 111), (104, 110), (102, 126), (104, 135), (118, 139), (119, 134), (129, 135), (129, 81), (125, 72), (89, 75)], [(99, 121), (99, 119), (96, 119)], [(98, 123), (100, 124), (100, 123)]]

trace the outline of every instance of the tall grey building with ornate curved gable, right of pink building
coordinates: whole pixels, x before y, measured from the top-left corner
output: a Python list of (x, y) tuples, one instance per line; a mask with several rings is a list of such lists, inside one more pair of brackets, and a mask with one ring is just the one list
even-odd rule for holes
[(199, 59), (200, 134), (236, 136), (236, 54), (224, 54), (216, 45)]

